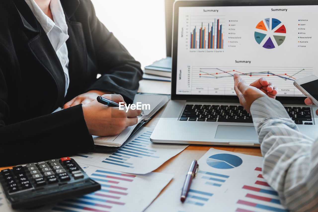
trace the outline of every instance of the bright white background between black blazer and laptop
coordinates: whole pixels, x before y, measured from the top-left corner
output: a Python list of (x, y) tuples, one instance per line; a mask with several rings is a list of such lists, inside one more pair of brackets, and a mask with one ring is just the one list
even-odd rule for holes
[(96, 16), (142, 68), (166, 57), (164, 0), (92, 0)]

